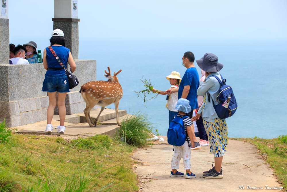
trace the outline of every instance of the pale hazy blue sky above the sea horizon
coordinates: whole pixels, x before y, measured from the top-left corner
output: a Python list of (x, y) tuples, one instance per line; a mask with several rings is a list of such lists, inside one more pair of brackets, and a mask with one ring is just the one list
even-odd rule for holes
[[(49, 40), (53, 31), (53, 0), (8, 1), (11, 43)], [(91, 38), (287, 38), (286, 9), (286, 0), (79, 0), (79, 35)]]

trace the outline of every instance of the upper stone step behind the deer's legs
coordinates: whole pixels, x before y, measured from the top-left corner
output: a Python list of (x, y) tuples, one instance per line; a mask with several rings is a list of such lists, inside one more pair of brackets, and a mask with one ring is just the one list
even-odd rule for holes
[[(99, 113), (100, 113), (100, 108), (90, 111), (90, 116), (91, 116), (93, 121), (96, 119), (96, 117), (98, 117)], [(76, 113), (76, 114), (73, 114), (73, 115), (78, 115), (80, 117), (80, 122), (81, 123), (88, 122), (84, 112), (83, 113)], [(119, 115), (119, 117), (127, 115), (127, 110), (119, 110), (118, 115)], [(98, 122), (107, 121), (109, 119), (114, 119), (114, 118), (116, 118), (116, 111), (115, 111), (115, 109), (104, 109), (104, 111), (101, 113), (101, 115), (100, 115), (100, 117), (98, 119)]]

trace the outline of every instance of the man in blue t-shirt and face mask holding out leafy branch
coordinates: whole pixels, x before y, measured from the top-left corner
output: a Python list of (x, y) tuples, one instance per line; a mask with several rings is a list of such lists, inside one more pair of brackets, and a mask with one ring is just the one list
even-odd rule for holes
[[(185, 52), (182, 57), (182, 65), (187, 68), (183, 78), (181, 79), (181, 83), (179, 88), (168, 89), (166, 90), (168, 94), (178, 92), (178, 98), (184, 98), (189, 100), (189, 105), (191, 107), (191, 112), (186, 115), (192, 118), (192, 113), (194, 109), (198, 108), (197, 104), (197, 88), (199, 87), (199, 76), (197, 70), (193, 64), (194, 62), (194, 54), (190, 51)], [(195, 137), (194, 137), (195, 138)], [(192, 149), (201, 148), (199, 142), (194, 140), (195, 147)]]

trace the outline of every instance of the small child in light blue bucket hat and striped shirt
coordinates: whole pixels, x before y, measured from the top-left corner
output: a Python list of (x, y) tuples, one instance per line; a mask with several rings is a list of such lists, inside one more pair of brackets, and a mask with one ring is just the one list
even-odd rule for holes
[(194, 142), (190, 142), (190, 138), (193, 140), (194, 131), (191, 128), (193, 124), (191, 119), (186, 116), (186, 113), (191, 112), (191, 107), (189, 105), (189, 101), (187, 99), (179, 99), (175, 109), (179, 111), (176, 117), (183, 118), (183, 126), (186, 134), (185, 143), (182, 146), (175, 146), (174, 145), (174, 153), (171, 159), (171, 169), (170, 177), (182, 177), (184, 173), (177, 171), (179, 169), (179, 162), (181, 158), (183, 158), (183, 165), (184, 169), (186, 170), (185, 178), (195, 178), (195, 174), (190, 171), (190, 147), (189, 143), (191, 143), (192, 147), (194, 147)]

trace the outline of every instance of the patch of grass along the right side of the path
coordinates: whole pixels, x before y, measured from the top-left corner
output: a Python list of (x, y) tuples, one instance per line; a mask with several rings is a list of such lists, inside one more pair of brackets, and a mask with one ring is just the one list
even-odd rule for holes
[[(265, 161), (274, 169), (278, 181), (284, 190), (287, 189), (287, 135), (280, 135), (274, 139), (254, 138), (232, 138), (251, 142), (257, 146)], [(283, 190), (283, 191), (284, 191)]]

